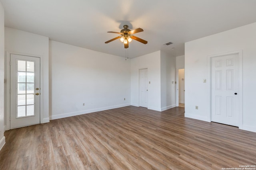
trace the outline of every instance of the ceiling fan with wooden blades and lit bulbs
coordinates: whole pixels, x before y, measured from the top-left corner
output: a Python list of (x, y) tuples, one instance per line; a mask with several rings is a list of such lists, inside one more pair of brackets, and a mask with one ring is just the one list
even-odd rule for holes
[(128, 29), (128, 25), (124, 25), (124, 29), (122, 29), (120, 31), (120, 33), (119, 32), (108, 31), (108, 33), (117, 33), (117, 34), (120, 34), (120, 35), (118, 37), (115, 37), (113, 39), (110, 39), (110, 40), (106, 41), (105, 44), (110, 43), (111, 41), (114, 41), (118, 38), (120, 38), (120, 41), (122, 43), (124, 43), (124, 48), (125, 49), (127, 49), (129, 47), (129, 43), (132, 41), (132, 39), (134, 39), (136, 41), (139, 41), (143, 44), (146, 44), (146, 43), (148, 43), (148, 41), (132, 35), (132, 34), (135, 34), (135, 33), (142, 32), (142, 31), (144, 31), (142, 28), (137, 28), (137, 29), (130, 30), (130, 29)]

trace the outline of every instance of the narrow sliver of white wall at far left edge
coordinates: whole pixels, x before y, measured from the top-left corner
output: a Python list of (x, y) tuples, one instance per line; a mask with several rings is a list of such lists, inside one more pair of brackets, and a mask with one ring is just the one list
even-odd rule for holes
[(4, 8), (0, 2), (0, 150), (5, 144), (4, 104)]

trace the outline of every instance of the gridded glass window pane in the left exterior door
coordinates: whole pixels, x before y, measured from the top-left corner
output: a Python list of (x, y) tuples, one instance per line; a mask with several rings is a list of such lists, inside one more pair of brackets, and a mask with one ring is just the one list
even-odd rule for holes
[(16, 118), (34, 116), (34, 62), (17, 60)]

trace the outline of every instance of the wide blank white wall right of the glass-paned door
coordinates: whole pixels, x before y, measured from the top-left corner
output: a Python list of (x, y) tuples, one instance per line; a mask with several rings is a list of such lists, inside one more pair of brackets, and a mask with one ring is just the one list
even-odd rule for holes
[(129, 59), (56, 41), (49, 45), (50, 119), (130, 106)]

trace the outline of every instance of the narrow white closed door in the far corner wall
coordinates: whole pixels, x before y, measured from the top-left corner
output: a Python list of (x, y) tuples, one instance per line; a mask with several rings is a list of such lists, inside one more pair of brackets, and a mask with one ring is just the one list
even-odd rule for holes
[(148, 108), (148, 69), (140, 69), (140, 106)]

